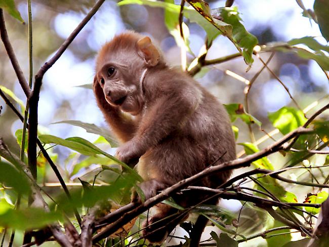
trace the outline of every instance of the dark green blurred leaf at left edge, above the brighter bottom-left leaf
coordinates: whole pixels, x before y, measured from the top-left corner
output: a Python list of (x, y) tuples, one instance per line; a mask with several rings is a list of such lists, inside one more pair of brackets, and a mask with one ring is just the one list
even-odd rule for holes
[(12, 187), (17, 193), (30, 193), (27, 176), (18, 171), (13, 164), (5, 161), (0, 161), (0, 182), (8, 187)]

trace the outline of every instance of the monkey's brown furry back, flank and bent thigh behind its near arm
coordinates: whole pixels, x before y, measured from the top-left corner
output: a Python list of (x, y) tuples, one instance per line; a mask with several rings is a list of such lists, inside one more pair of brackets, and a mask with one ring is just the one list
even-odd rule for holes
[[(178, 78), (173, 90), (179, 90), (183, 85), (182, 94), (195, 97), (197, 104), (183, 123), (140, 158), (138, 171), (144, 179), (159, 179), (158, 174), (162, 174), (162, 182), (172, 185), (204, 170), (220, 157), (216, 164), (235, 159), (236, 154), (231, 123), (224, 106), (193, 78), (172, 69), (163, 76), (163, 81), (153, 81), (152, 84), (166, 85), (168, 72), (171, 78)], [(181, 110), (179, 106), (177, 110)], [(161, 166), (156, 164), (158, 160)], [(197, 185), (216, 187), (230, 174), (230, 171), (221, 172)]]

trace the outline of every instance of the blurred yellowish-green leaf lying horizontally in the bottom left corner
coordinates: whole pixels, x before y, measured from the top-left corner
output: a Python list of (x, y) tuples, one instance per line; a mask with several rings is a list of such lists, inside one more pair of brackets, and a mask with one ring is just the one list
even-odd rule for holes
[(63, 220), (61, 212), (45, 212), (44, 209), (38, 208), (7, 209), (3, 214), (0, 213), (1, 226), (19, 230), (41, 229), (58, 220)]

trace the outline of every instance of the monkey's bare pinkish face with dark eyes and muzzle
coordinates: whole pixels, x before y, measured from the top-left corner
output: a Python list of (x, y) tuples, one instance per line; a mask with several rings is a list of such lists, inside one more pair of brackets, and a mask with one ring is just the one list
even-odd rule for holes
[(96, 74), (97, 81), (110, 105), (119, 107), (132, 115), (138, 115), (145, 102), (140, 85), (142, 70), (127, 66), (122, 62), (124, 61), (116, 60), (105, 63)]

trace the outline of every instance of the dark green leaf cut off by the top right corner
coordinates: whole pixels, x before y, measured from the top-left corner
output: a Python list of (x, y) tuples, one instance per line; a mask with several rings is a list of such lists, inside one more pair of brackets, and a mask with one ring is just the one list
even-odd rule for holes
[(329, 1), (328, 0), (315, 0), (314, 13), (320, 27), (323, 37), (329, 42)]

